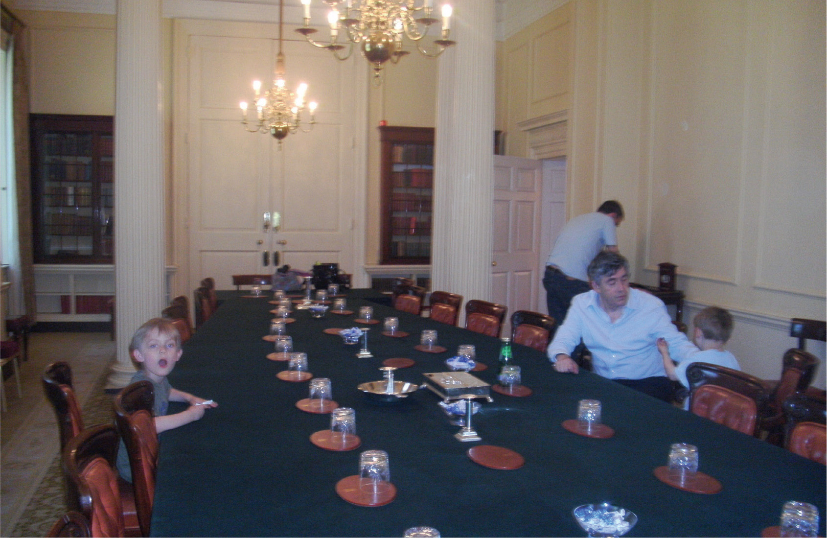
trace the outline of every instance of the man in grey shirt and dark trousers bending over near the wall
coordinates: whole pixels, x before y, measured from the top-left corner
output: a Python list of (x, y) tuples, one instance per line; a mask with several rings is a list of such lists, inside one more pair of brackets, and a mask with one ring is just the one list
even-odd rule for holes
[(563, 227), (546, 261), (543, 287), (548, 315), (559, 327), (566, 319), (571, 299), (590, 291), (586, 267), (604, 248), (618, 252), (614, 228), (624, 219), (623, 206), (607, 200), (595, 213), (582, 214)]

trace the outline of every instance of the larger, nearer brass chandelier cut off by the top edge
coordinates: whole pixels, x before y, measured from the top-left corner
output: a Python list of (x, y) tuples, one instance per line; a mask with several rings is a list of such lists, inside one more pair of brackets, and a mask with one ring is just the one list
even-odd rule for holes
[[(319, 43), (310, 38), (316, 33), (316, 29), (310, 27), (310, 1), (302, 0), (304, 27), (296, 31), (314, 46), (330, 50), (337, 60), (347, 60), (354, 45), (359, 46), (361, 54), (373, 68), (377, 85), (381, 84), (380, 76), (386, 61), (397, 64), (402, 56), (409, 54), (403, 49), (403, 36), (413, 41), (420, 53), (431, 58), (436, 58), (447, 47), (456, 44), (456, 41), (448, 39), (452, 7), (444, 4), (440, 38), (433, 41), (436, 47), (428, 50), (422, 46), (421, 41), (431, 25), (440, 22), (432, 17), (433, 0), (422, 0), (423, 4), (419, 7), (415, 6), (418, 0), (324, 0), (330, 6), (327, 13), (330, 41)], [(340, 4), (343, 4), (341, 9)], [(340, 30), (343, 30), (347, 40), (347, 53), (340, 52), (346, 48), (339, 42)]]

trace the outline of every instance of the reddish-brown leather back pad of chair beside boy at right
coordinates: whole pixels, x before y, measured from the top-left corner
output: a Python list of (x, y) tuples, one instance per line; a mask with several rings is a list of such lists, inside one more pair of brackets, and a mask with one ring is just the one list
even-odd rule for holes
[(690, 411), (735, 431), (755, 435), (758, 407), (755, 401), (728, 388), (702, 385), (692, 392)]

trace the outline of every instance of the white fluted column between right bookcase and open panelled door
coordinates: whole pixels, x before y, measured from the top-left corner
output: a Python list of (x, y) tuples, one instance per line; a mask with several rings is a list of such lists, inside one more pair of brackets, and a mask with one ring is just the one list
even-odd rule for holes
[[(494, 0), (457, 0), (439, 57), (431, 289), (491, 295)], [(463, 316), (464, 319), (464, 316)]]

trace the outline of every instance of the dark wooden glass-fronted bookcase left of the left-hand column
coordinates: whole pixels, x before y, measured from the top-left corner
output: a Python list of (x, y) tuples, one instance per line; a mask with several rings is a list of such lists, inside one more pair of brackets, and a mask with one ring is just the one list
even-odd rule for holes
[(36, 263), (112, 263), (112, 117), (31, 114)]

